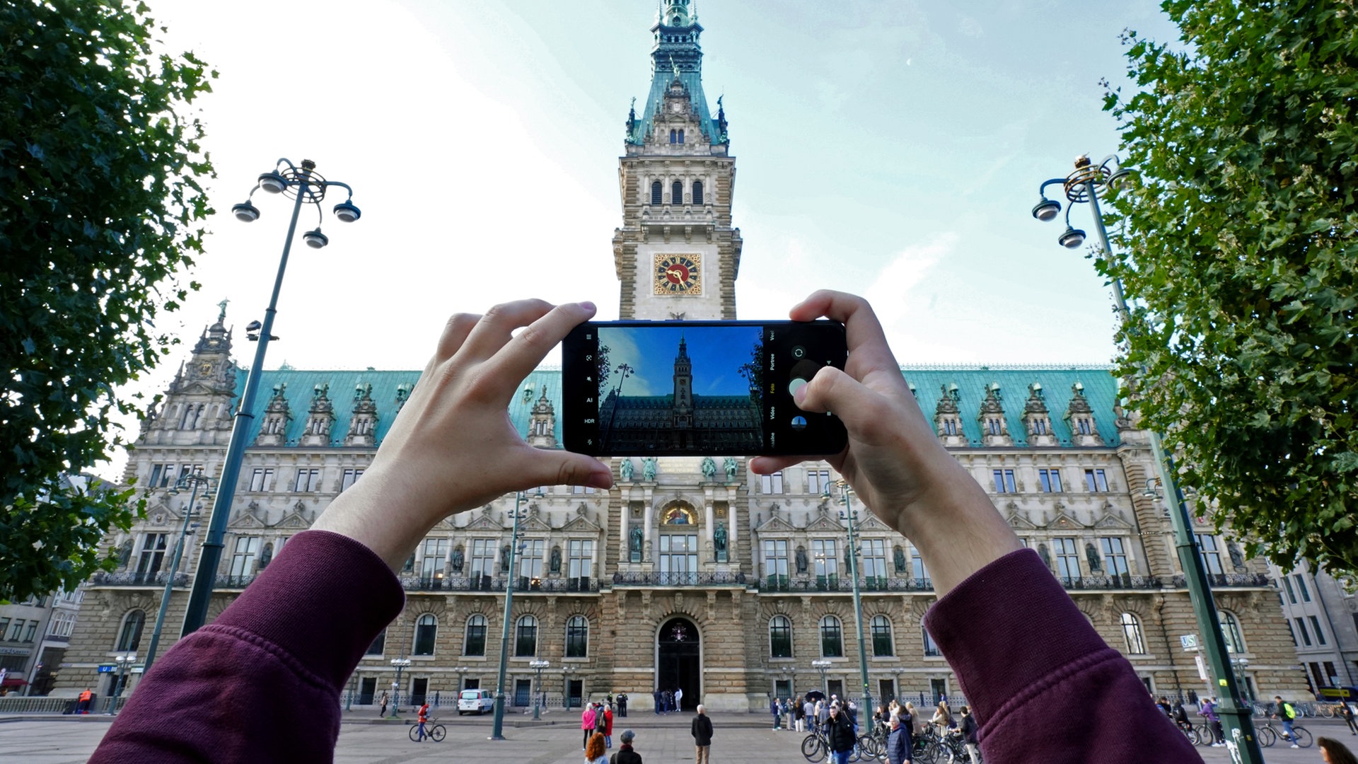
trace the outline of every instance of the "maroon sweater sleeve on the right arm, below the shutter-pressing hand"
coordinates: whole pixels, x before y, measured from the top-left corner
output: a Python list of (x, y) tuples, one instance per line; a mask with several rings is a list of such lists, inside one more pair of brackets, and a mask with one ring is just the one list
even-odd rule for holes
[(1202, 761), (1031, 549), (972, 574), (925, 627), (980, 722), (986, 761)]

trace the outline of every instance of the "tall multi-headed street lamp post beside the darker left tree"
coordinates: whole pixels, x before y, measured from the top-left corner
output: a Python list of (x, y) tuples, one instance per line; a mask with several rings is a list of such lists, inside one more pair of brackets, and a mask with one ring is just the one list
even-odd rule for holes
[[(318, 224), (314, 230), (301, 235), (307, 246), (320, 249), (330, 243), (330, 239), (320, 232), (320, 201), (326, 197), (326, 190), (338, 186), (349, 192), (349, 198), (337, 204), (333, 209), (335, 218), (342, 223), (353, 223), (361, 215), (353, 205), (353, 189), (348, 184), (327, 181), (316, 171), (316, 163), (310, 159), (301, 160), (299, 169), (287, 159), (274, 163), (274, 169), (259, 175), (255, 181), (255, 190), (263, 189), (268, 193), (281, 193), (295, 201), (292, 205), (292, 222), (288, 223), (288, 237), (282, 241), (282, 256), (278, 260), (278, 273), (273, 280), (273, 294), (269, 298), (269, 307), (263, 313), (263, 324), (259, 326), (258, 347), (255, 347), (254, 363), (250, 364), (250, 374), (246, 375), (246, 389), (240, 394), (240, 408), (236, 409), (235, 424), (231, 428), (231, 443), (227, 446), (227, 457), (221, 464), (221, 477), (217, 481), (217, 500), (212, 503), (212, 519), (208, 522), (208, 533), (202, 540), (202, 552), (198, 555), (198, 570), (193, 576), (193, 590), (189, 594), (189, 608), (183, 616), (183, 629), (179, 636), (189, 636), (202, 627), (208, 617), (208, 605), (212, 601), (212, 589), (216, 585), (217, 564), (221, 561), (223, 537), (227, 532), (227, 521), (231, 517), (231, 502), (236, 495), (236, 480), (240, 477), (240, 461), (246, 454), (246, 440), (250, 438), (250, 428), (254, 421), (254, 398), (259, 390), (259, 377), (263, 374), (263, 356), (269, 348), (269, 340), (276, 337), (273, 332), (273, 317), (278, 309), (278, 292), (282, 291), (282, 275), (288, 269), (288, 253), (292, 249), (292, 238), (297, 230), (297, 216), (303, 204), (316, 205)], [(247, 198), (231, 208), (236, 219), (250, 223), (259, 219), (259, 209)], [(253, 328), (253, 325), (251, 325)], [(249, 330), (249, 328), (247, 328)], [(255, 337), (251, 337), (255, 338)]]

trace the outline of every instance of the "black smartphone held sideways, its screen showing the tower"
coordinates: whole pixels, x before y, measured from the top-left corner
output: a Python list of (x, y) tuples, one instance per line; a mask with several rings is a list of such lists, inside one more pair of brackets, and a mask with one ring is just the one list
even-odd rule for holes
[(591, 321), (562, 343), (562, 438), (596, 457), (838, 454), (839, 417), (792, 394), (847, 358), (838, 321)]

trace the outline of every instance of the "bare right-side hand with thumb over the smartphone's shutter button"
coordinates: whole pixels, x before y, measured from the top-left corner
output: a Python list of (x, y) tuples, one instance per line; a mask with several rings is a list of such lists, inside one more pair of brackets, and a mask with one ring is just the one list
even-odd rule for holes
[[(793, 321), (820, 317), (845, 324), (849, 360), (843, 371), (823, 367), (797, 392), (797, 406), (832, 411), (845, 423), (849, 445), (827, 461), (873, 514), (915, 544), (938, 595), (1023, 548), (980, 485), (938, 443), (872, 306), (822, 290), (789, 311)], [(750, 469), (769, 474), (801, 461), (756, 457)]]

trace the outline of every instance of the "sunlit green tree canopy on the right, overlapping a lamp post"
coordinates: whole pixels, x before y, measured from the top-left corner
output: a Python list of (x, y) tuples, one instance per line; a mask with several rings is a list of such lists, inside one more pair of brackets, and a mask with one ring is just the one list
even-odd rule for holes
[[(1133, 405), (1218, 530), (1358, 570), (1358, 16), (1351, 0), (1168, 0), (1105, 109)], [(1139, 371), (1145, 367), (1146, 372)]]

